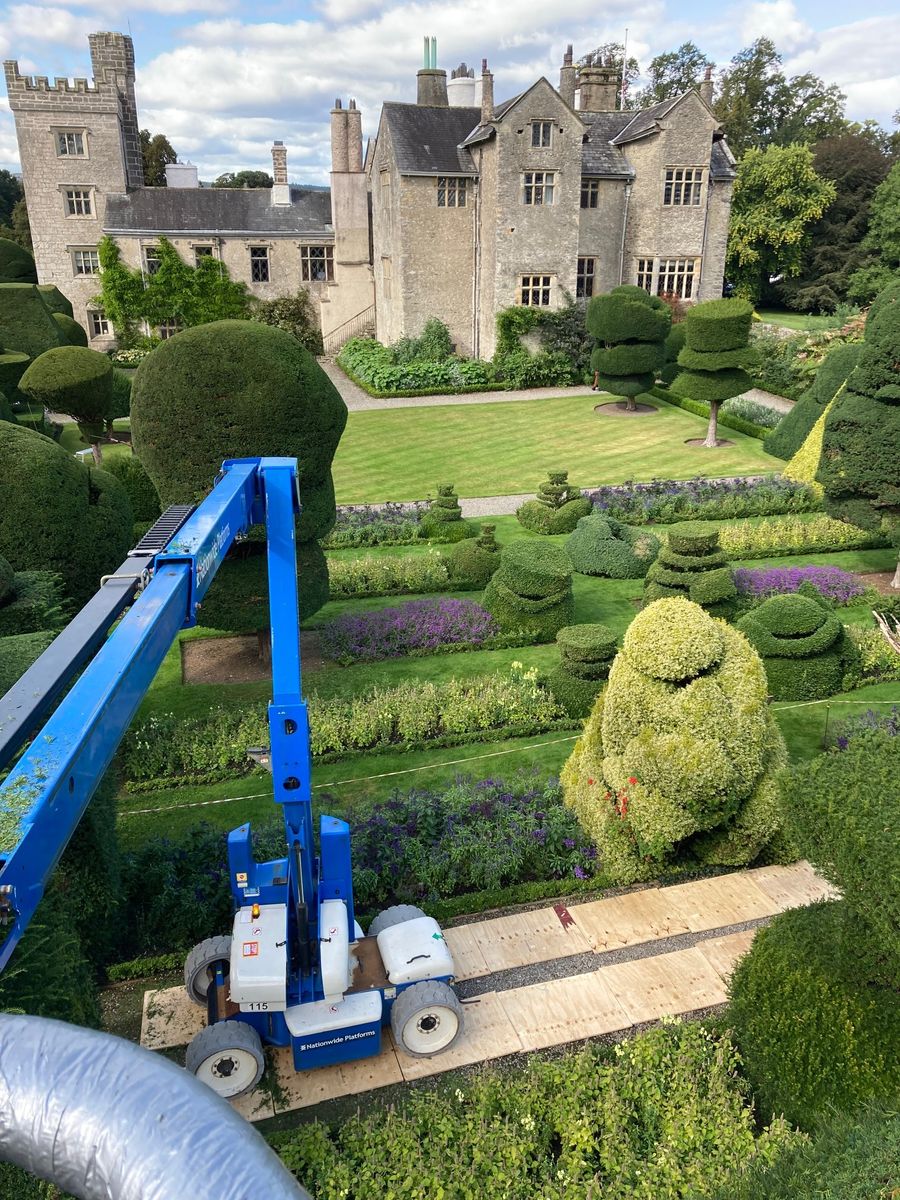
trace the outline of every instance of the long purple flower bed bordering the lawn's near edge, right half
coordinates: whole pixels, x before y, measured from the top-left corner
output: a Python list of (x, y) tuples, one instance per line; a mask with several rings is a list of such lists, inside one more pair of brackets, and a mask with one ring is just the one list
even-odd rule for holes
[(773, 479), (653, 479), (586, 493), (596, 512), (629, 524), (815, 512), (821, 500), (804, 484)]

